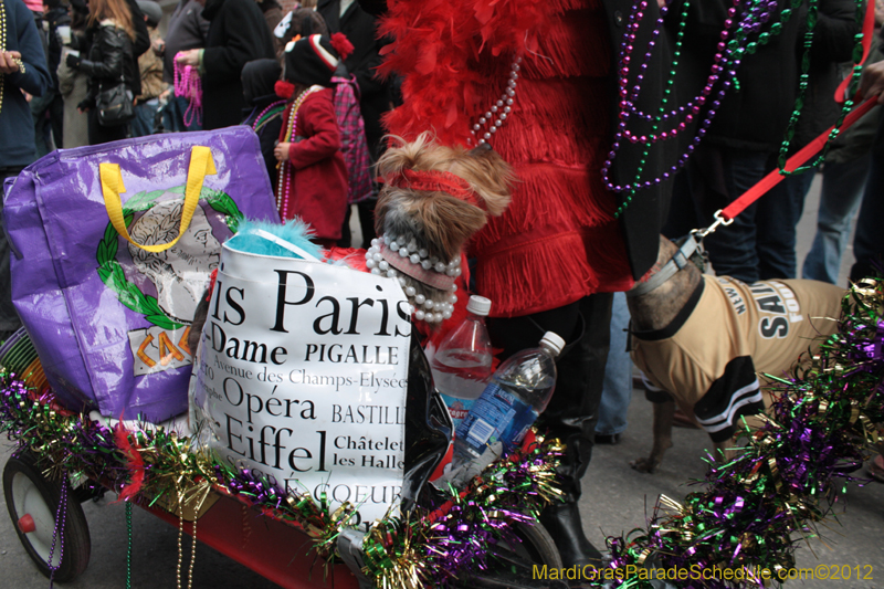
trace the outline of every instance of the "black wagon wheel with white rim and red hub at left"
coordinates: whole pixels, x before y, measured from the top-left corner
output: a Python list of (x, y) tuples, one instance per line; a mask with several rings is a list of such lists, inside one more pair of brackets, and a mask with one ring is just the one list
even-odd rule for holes
[[(64, 484), (67, 485), (67, 481)], [(43, 476), (36, 459), (30, 452), (10, 457), (3, 469), (3, 496), (9, 517), (28, 556), (46, 577), (52, 575), (48, 560), (52, 551), (61, 485), (62, 482), (48, 481)], [(83, 508), (74, 498), (70, 485), (66, 491), (64, 535), (62, 539), (56, 539), (52, 551), (52, 564), (57, 567), (52, 578), (60, 582), (73, 580), (86, 569), (92, 547)]]

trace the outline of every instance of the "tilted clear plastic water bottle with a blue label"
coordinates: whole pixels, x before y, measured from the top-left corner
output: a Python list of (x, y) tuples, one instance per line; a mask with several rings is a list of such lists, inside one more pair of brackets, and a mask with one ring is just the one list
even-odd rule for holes
[(445, 482), (463, 486), (522, 443), (549, 404), (556, 389), (556, 358), (564, 347), (564, 339), (547, 332), (539, 347), (522, 350), (499, 366), (457, 427)]

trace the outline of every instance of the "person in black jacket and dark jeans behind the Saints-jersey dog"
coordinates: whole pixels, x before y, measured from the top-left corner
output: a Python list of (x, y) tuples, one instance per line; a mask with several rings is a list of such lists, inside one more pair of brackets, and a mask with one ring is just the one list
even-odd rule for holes
[[(777, 12), (789, 6), (780, 0)], [(709, 55), (720, 41), (722, 23), (732, 3), (708, 0), (691, 6), (694, 25), (685, 38), (682, 62), (697, 72), (708, 72)], [(823, 15), (820, 17), (824, 19)], [(777, 15), (760, 27), (769, 32)], [(777, 167), (777, 156), (794, 108), (802, 51), (802, 27), (807, 9), (796, 10), (770, 42), (759, 44), (754, 54), (743, 57), (736, 83), (720, 103), (704, 140), (680, 172), (673, 196), (670, 223), (664, 233), (684, 235), (691, 229), (708, 227), (714, 213), (739, 198), (746, 190)], [(825, 24), (825, 21), (821, 21)], [(696, 93), (697, 88), (691, 88)], [(683, 96), (684, 104), (688, 96)], [(709, 104), (706, 105), (706, 109)], [(699, 113), (704, 118), (707, 111)], [(800, 146), (798, 146), (800, 147)], [(772, 231), (790, 224), (791, 213), (777, 211), (777, 201), (761, 197), (738, 214), (734, 222), (705, 239), (705, 246), (716, 274), (733, 276), (748, 284), (771, 276), (760, 274), (757, 219), (774, 223)], [(675, 206), (678, 202), (680, 206)], [(788, 217), (788, 218), (787, 218)]]

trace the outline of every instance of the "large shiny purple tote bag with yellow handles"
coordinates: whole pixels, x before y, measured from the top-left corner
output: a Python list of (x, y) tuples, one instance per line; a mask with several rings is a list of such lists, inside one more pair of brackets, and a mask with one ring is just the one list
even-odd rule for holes
[[(189, 191), (197, 206), (180, 231), (191, 158), (206, 156), (197, 146), (209, 148), (212, 164), (202, 166), (201, 189)], [(198, 151), (202, 158), (191, 156)], [(172, 246), (148, 252), (120, 236), (105, 206), (115, 182), (105, 177), (103, 189), (103, 164), (118, 165), (120, 232), (139, 244), (166, 244), (180, 232)], [(243, 215), (278, 222), (248, 127), (64, 149), (21, 172), (4, 209), (12, 299), (66, 407), (152, 422), (187, 410), (189, 325)]]

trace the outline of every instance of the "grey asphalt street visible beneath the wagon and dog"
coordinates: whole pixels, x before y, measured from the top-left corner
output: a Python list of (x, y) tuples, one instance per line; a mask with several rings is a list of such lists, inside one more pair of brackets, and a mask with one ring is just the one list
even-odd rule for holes
[[(803, 261), (813, 238), (818, 194), (819, 178), (799, 228), (799, 261)], [(849, 252), (842, 276), (846, 276), (851, 262), (852, 254)], [(636, 393), (630, 407), (629, 429), (622, 442), (614, 446), (597, 446), (585, 478), (581, 509), (587, 534), (593, 543), (602, 545), (607, 535), (620, 535), (643, 526), (660, 494), (681, 499), (696, 490), (687, 483), (704, 474), (702, 456), (704, 449), (711, 448), (708, 437), (698, 430), (676, 429), (674, 442), (675, 446), (656, 474), (640, 474), (629, 467), (628, 462), (646, 455), (651, 445), (651, 403), (644, 400), (643, 395)], [(0, 459), (2, 463), (6, 463), (8, 454), (7, 444)], [(86, 572), (65, 587), (126, 587), (124, 507), (107, 499), (98, 504), (87, 503), (84, 507), (92, 533), (92, 559)], [(133, 587), (175, 587), (177, 529), (141, 509), (134, 512)], [(836, 519), (832, 517), (819, 526), (823, 538), (810, 538), (800, 545), (797, 550), (798, 565), (849, 565), (860, 566), (861, 569), (869, 565), (873, 567), (875, 580), (792, 581), (789, 586), (810, 589), (884, 587), (884, 550), (878, 545), (884, 539), (884, 484), (870, 483), (863, 487), (848, 485), (839, 498), (836, 512)], [(2, 514), (6, 514), (6, 507), (0, 507), (0, 586), (14, 589), (48, 587), (48, 580), (31, 565), (11, 522)], [(318, 567), (316, 575), (322, 575)], [(200, 546), (193, 587), (261, 589), (275, 586), (212, 549)]]

